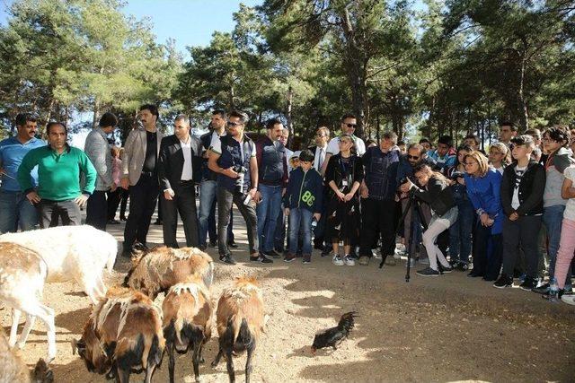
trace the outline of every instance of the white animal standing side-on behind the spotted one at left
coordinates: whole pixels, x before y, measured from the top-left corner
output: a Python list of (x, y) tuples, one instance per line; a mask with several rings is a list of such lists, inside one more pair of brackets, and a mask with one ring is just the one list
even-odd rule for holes
[(46, 282), (75, 280), (93, 303), (106, 295), (102, 271), (111, 273), (118, 242), (111, 234), (92, 226), (58, 226), (37, 231), (0, 235), (0, 242), (13, 242), (38, 252), (46, 262)]

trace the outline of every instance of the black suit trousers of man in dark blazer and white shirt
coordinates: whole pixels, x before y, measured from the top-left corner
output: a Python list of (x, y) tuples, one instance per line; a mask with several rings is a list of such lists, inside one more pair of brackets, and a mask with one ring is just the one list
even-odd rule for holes
[(169, 248), (178, 248), (176, 230), (178, 228), (178, 213), (183, 224), (183, 232), (186, 236), (186, 246), (197, 248), (199, 246), (198, 213), (196, 212), (196, 192), (194, 183), (181, 182), (178, 191), (172, 200), (160, 196), (160, 204), (164, 217), (162, 227), (164, 229), (164, 245)]

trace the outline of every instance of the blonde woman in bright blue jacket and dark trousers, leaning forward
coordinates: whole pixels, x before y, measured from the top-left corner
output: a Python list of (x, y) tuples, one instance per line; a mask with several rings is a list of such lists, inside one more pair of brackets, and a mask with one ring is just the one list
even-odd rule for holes
[[(467, 154), (464, 164), (467, 196), (478, 216), (473, 238), (473, 270), (469, 276), (482, 276), (485, 281), (495, 281), (500, 274), (503, 251), (501, 173), (489, 167), (487, 158), (481, 152)], [(490, 240), (491, 252), (488, 254)]]

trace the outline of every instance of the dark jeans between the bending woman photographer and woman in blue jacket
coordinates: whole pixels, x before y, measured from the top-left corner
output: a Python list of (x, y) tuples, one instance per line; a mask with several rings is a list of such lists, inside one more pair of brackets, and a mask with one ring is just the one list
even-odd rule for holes
[(457, 201), (456, 205), (459, 213), (457, 221), (449, 227), (449, 256), (452, 261), (467, 264), (471, 256), (471, 232), (475, 213), (468, 199)]

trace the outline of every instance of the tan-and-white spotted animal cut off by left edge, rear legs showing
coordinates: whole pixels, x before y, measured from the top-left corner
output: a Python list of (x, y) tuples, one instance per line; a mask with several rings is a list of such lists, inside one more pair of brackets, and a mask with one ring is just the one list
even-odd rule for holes
[[(38, 252), (14, 243), (0, 242), (0, 300), (12, 308), (9, 344), (22, 348), (38, 317), (48, 329), (48, 361), (51, 361), (56, 357), (54, 310), (41, 303), (47, 274), (46, 263)], [(26, 325), (16, 344), (22, 312), (26, 314)]]

